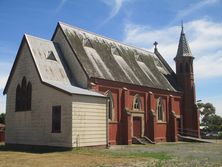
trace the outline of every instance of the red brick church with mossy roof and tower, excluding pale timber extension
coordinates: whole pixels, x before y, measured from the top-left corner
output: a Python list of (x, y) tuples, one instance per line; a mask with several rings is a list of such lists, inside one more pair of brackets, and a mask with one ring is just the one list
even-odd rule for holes
[(199, 137), (194, 57), (183, 28), (174, 59), (176, 73), (157, 43), (152, 53), (63, 23), (56, 28), (54, 42), (60, 43), (60, 31), (87, 78), (86, 88), (109, 97), (110, 144), (131, 144), (133, 137), (177, 141), (179, 132)]

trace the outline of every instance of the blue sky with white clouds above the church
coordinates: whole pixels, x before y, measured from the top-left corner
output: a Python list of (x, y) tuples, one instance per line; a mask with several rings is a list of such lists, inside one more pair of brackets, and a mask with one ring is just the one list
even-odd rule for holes
[(51, 39), (59, 21), (153, 51), (175, 69), (181, 21), (194, 59), (197, 100), (222, 116), (222, 0), (0, 0), (2, 92), (23, 35)]

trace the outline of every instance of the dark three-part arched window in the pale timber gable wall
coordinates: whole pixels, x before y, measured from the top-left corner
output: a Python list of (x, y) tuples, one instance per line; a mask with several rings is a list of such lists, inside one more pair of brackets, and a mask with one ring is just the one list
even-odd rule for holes
[(26, 81), (26, 78), (22, 78), (22, 84), (18, 84), (16, 88), (16, 104), (15, 111), (27, 111), (31, 110), (32, 100), (32, 85)]

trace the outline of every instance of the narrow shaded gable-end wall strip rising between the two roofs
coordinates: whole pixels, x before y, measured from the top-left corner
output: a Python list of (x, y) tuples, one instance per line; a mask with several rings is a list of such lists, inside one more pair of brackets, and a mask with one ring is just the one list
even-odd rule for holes
[(75, 79), (77, 86), (82, 88), (87, 88), (87, 76), (84, 73), (82, 67), (80, 66), (76, 56), (74, 55), (71, 47), (66, 40), (62, 30), (60, 28), (55, 32), (53, 42), (59, 44), (60, 49), (64, 55), (64, 58), (71, 70), (72, 77)]

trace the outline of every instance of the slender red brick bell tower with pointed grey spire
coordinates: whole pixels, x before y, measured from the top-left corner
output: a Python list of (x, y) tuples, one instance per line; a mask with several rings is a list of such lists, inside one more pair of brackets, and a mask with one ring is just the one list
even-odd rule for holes
[(200, 137), (199, 112), (196, 107), (196, 92), (193, 73), (193, 60), (190, 47), (186, 40), (183, 23), (176, 57), (177, 82), (183, 92), (182, 124), (183, 134)]

